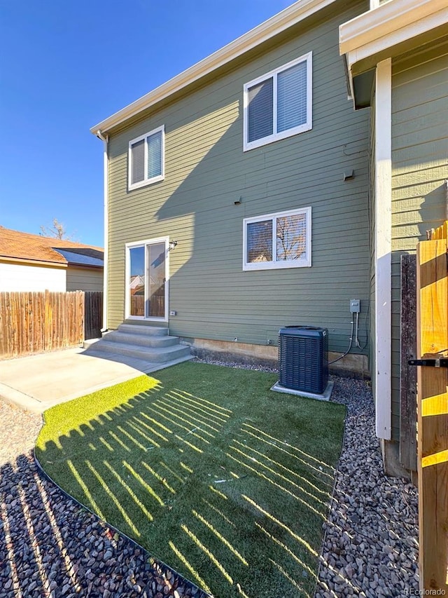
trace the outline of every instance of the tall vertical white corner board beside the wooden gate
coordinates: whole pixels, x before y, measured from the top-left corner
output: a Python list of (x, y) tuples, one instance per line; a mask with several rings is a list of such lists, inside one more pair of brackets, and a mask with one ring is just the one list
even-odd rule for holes
[(375, 417), (377, 436), (391, 440), (392, 60), (377, 64), (375, 93)]

